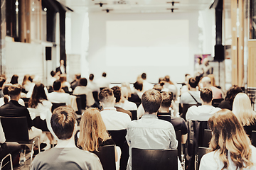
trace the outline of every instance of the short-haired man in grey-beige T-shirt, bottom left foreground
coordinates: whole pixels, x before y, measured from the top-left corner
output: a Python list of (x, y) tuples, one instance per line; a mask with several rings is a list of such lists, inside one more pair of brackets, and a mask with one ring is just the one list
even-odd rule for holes
[(75, 146), (77, 123), (75, 111), (69, 106), (60, 106), (53, 111), (50, 120), (58, 144), (38, 154), (31, 169), (102, 169), (95, 154)]

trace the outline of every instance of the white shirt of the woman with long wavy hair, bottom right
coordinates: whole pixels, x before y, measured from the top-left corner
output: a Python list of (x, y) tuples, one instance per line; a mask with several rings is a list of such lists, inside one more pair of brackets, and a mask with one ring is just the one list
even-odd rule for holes
[[(250, 170), (256, 169), (256, 148), (252, 145), (250, 146), (250, 149), (252, 149), (252, 156), (251, 156), (251, 162), (254, 164)], [(236, 166), (231, 160), (230, 152), (228, 152), (228, 162), (229, 166), (227, 170), (235, 170)], [(199, 170), (221, 170), (223, 168), (224, 164), (220, 161), (220, 152), (217, 150), (216, 152), (210, 152), (208, 154), (203, 155)], [(238, 169), (240, 170), (240, 169)], [(249, 170), (249, 168), (245, 168), (243, 170)]]

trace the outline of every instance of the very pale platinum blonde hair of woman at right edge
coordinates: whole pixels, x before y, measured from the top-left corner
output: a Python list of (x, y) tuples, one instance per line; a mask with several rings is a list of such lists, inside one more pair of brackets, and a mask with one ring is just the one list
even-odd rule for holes
[(252, 110), (247, 94), (239, 93), (235, 96), (232, 111), (243, 126), (254, 124), (253, 120), (256, 119), (256, 113)]

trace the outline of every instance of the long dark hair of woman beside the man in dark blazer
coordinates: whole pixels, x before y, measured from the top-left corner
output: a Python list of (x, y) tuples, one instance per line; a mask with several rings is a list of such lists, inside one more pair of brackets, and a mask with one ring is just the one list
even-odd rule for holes
[(38, 103), (41, 103), (41, 99), (47, 100), (46, 91), (44, 91), (44, 87), (45, 86), (43, 84), (35, 84), (32, 96), (28, 101), (28, 107), (36, 108), (36, 106), (38, 106)]

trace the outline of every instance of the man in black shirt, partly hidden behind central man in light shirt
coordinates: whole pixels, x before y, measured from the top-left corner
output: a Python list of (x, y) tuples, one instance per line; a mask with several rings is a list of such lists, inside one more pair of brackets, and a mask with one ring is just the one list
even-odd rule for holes
[(161, 120), (166, 120), (174, 125), (176, 131), (181, 130), (181, 143), (185, 144), (188, 137), (188, 126), (183, 118), (171, 116), (169, 108), (171, 107), (171, 101), (173, 101), (172, 93), (163, 91), (161, 92), (162, 103), (157, 117)]

